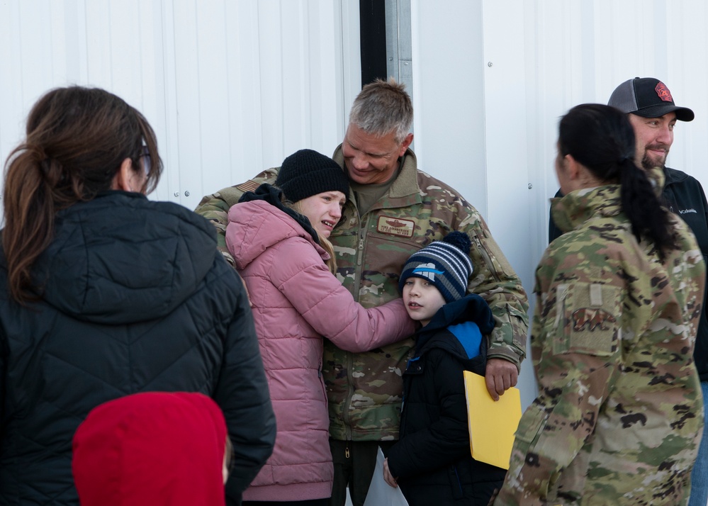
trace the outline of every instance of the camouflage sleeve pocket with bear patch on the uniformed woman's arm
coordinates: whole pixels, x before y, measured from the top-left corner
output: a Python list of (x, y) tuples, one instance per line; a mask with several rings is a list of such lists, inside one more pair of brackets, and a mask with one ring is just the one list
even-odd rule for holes
[(558, 285), (556, 318), (550, 323), (554, 354), (609, 356), (621, 338), (622, 290), (600, 283)]

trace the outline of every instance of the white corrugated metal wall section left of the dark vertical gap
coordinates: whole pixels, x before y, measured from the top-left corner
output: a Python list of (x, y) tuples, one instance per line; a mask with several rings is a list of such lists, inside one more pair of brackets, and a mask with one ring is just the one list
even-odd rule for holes
[(167, 173), (152, 197), (194, 208), (341, 142), (358, 18), (338, 0), (0, 0), (0, 157), (44, 91), (100, 86), (157, 131)]

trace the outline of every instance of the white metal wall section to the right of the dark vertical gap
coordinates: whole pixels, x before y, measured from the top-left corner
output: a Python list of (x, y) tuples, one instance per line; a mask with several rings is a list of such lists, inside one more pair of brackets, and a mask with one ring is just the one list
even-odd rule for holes
[[(411, 0), (415, 150), (481, 211), (529, 291), (548, 239), (558, 118), (658, 77), (696, 119), (671, 167), (708, 188), (708, 4), (702, 0)], [(530, 361), (522, 403), (534, 397)]]

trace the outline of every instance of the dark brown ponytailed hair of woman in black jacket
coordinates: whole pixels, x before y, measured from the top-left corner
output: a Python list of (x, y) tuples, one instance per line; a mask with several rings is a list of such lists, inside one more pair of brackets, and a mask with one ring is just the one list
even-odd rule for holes
[(3, 249), (11, 296), (38, 298), (30, 271), (54, 237), (58, 211), (111, 189), (124, 159), (142, 170), (143, 146), (151, 169), (143, 193), (162, 174), (157, 139), (142, 114), (103, 89), (69, 86), (48, 91), (27, 118), (26, 139), (5, 165)]

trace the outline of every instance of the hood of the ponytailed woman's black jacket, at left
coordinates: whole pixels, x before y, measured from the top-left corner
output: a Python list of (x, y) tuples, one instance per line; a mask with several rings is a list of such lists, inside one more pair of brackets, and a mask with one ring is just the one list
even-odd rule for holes
[(33, 280), (62, 313), (123, 325), (171, 313), (217, 254), (213, 225), (191, 210), (108, 191), (57, 213)]

